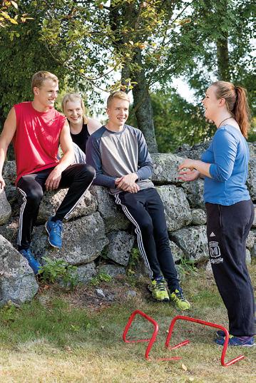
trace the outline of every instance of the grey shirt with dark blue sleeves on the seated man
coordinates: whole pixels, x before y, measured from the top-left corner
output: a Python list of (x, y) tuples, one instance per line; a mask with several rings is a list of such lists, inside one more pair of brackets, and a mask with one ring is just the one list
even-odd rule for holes
[(123, 175), (136, 173), (140, 190), (154, 188), (148, 179), (153, 165), (143, 133), (125, 125), (121, 132), (109, 131), (101, 126), (86, 145), (86, 163), (96, 170), (95, 185), (106, 186), (111, 194), (120, 193), (115, 180)]

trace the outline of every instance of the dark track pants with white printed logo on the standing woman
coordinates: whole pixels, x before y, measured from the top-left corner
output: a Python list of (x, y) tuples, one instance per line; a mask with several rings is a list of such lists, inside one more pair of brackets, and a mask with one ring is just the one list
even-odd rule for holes
[(252, 226), (251, 200), (230, 206), (206, 203), (207, 235), (213, 275), (227, 308), (230, 334), (255, 334), (255, 302), (247, 266), (245, 241)]

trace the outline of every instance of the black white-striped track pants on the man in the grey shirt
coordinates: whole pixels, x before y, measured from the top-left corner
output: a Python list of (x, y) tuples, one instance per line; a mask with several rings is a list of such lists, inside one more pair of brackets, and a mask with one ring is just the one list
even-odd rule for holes
[(179, 287), (163, 203), (158, 192), (155, 188), (143, 189), (134, 194), (122, 192), (115, 195), (115, 200), (135, 226), (140, 254), (148, 267), (150, 277), (163, 273), (170, 290)]

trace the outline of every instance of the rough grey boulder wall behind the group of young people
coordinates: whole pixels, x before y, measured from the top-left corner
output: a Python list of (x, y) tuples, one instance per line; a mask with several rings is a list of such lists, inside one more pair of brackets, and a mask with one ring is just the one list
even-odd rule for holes
[[(201, 262), (208, 260), (206, 214), (203, 204), (203, 180), (183, 183), (178, 180), (178, 164), (183, 158), (199, 159), (208, 143), (183, 145), (177, 153), (153, 154), (152, 180), (163, 200), (176, 264), (182, 257)], [(248, 188), (256, 204), (256, 143), (250, 143)], [(14, 186), (15, 163), (4, 166), (5, 192), (0, 194), (0, 305), (12, 300), (16, 304), (31, 300), (38, 290), (36, 278), (27, 261), (15, 250), (19, 221), (19, 198)], [(81, 282), (88, 282), (98, 270), (115, 277), (126, 272), (135, 237), (133, 227), (118, 208), (106, 188), (91, 186), (81, 203), (63, 224), (63, 248), (48, 244), (44, 228), (49, 215), (58, 207), (66, 190), (43, 196), (34, 230), (32, 250), (41, 257), (63, 259), (78, 267)], [(255, 205), (256, 207), (256, 205)], [(247, 240), (247, 261), (256, 256), (256, 222)]]

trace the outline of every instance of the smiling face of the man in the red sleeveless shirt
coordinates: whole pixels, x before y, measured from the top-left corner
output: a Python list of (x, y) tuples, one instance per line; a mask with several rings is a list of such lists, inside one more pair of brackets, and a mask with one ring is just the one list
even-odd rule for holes
[(43, 81), (40, 88), (34, 86), (34, 101), (43, 109), (53, 108), (58, 96), (58, 82), (51, 79)]

